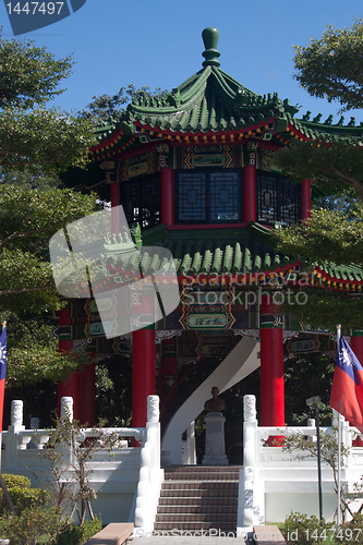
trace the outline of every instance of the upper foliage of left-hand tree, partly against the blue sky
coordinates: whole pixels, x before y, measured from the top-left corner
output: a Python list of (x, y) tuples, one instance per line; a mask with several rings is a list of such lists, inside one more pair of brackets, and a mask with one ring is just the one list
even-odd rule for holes
[(86, 118), (46, 108), (63, 92), (59, 82), (71, 73), (71, 57), (56, 60), (31, 40), (0, 35), (0, 167), (55, 173), (85, 165), (95, 142)]

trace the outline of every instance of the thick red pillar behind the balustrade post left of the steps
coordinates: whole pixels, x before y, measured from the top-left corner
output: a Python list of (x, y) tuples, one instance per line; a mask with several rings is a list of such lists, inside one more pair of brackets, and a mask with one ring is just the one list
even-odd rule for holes
[(132, 334), (132, 425), (145, 427), (147, 396), (155, 395), (155, 329)]

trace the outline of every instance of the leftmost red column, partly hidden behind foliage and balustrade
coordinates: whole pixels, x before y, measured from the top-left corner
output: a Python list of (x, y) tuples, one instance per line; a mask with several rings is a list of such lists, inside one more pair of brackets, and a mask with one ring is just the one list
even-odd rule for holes
[[(61, 332), (59, 336), (59, 351), (63, 354), (71, 352), (73, 342), (71, 339), (71, 311), (69, 307), (62, 308), (59, 313), (59, 327), (68, 327), (68, 332)], [(73, 398), (73, 417), (78, 420), (78, 373), (72, 373), (63, 383), (58, 383), (58, 415), (60, 416), (61, 399), (63, 397)]]

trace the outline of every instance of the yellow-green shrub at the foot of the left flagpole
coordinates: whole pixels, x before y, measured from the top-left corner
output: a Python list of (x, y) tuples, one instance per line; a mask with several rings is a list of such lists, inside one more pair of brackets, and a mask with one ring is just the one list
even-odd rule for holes
[[(17, 514), (26, 509), (40, 507), (46, 502), (48, 498), (47, 492), (39, 488), (32, 488), (31, 480), (26, 476), (3, 473), (2, 477)], [(3, 491), (0, 488), (0, 517), (9, 512), (10, 508)]]

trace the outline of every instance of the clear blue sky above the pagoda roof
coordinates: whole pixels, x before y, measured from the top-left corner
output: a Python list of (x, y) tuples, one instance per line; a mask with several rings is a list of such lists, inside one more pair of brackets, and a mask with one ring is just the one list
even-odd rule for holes
[[(351, 26), (362, 0), (87, 0), (76, 13), (24, 37), (57, 57), (73, 53), (68, 90), (53, 104), (81, 109), (92, 95), (113, 94), (134, 83), (171, 89), (202, 68), (202, 31), (219, 31), (220, 68), (258, 94), (277, 92), (301, 105), (301, 114), (330, 113), (338, 104), (310, 97), (293, 74), (292, 45), (305, 46), (326, 25)], [(3, 38), (13, 37), (4, 3)], [(16, 39), (22, 38), (22, 36)], [(362, 112), (347, 112), (346, 122)]]

